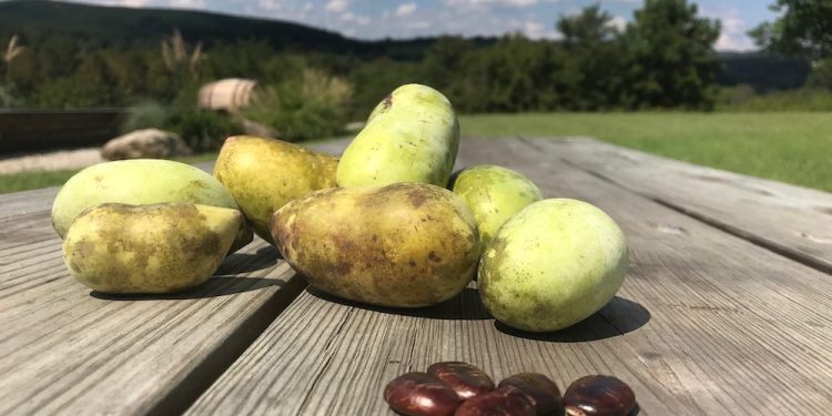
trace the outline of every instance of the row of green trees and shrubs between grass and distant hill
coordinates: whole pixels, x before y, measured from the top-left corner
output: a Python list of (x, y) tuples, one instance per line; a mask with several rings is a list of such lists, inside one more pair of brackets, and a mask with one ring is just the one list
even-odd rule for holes
[[(515, 33), (483, 45), (444, 37), (420, 61), (276, 52), (258, 41), (199, 50), (191, 42), (192, 51), (183, 57), (173, 44), (162, 53), (160, 48), (124, 44), (94, 48), (83, 39), (58, 35), (37, 43), (18, 39), (13, 47), (24, 50), (4, 60), (0, 99), (7, 106), (33, 108), (186, 102), (193, 100), (189, 94), (195, 84), (210, 80), (245, 77), (274, 84), (314, 68), (352, 85), (356, 113), (406, 82), (433, 85), (466, 112), (713, 105), (719, 70), (713, 44), (720, 26), (699, 17), (687, 0), (646, 0), (626, 28), (615, 27), (596, 4), (561, 16), (557, 29), (561, 40)], [(172, 64), (174, 55), (184, 60)]]

